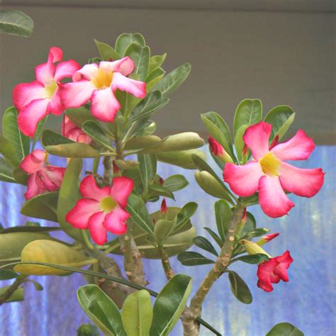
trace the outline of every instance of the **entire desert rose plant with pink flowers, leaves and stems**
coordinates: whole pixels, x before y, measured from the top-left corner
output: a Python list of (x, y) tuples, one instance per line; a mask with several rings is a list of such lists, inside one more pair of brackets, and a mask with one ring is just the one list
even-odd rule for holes
[[(21, 300), (21, 286), (32, 281), (30, 275), (77, 272), (88, 282), (78, 289), (79, 304), (106, 335), (169, 335), (179, 320), (184, 335), (202, 330), (220, 335), (201, 318), (214, 282), (228, 279), (237, 300), (252, 302), (249, 287), (231, 264), (257, 265), (255, 282), (267, 292), (289, 281), (290, 252), (271, 256), (264, 250), (280, 240), (274, 239), (279, 234), (257, 228), (248, 208), (259, 204), (265, 215), (281, 217), (294, 206), (289, 194), (309, 198), (318, 193), (322, 169), (286, 162), (308, 159), (314, 142), (303, 130), (281, 142), (295, 117), (289, 106), (276, 106), (263, 117), (261, 101), (245, 99), (237, 106), (233, 132), (218, 113), (204, 113), (210, 152), (223, 171), (218, 175), (197, 149), (205, 144), (198, 134), (154, 135), (152, 116), (167, 105), (190, 65), (166, 74), (166, 54), (150, 55), (139, 33), (122, 34), (115, 47), (95, 43), (100, 56), (86, 65), (63, 60), (63, 51), (51, 47), (47, 62), (35, 67), (35, 79), (32, 71), (32, 82), (13, 88), (14, 106), (4, 113), (0, 138), (0, 179), (26, 186), (23, 215), (56, 224), (28, 222), (0, 231), (0, 276), (13, 279), (1, 289), (0, 304)], [(60, 116), (59, 133), (45, 130), (50, 113)], [(66, 158), (64, 166), (50, 164), (52, 155)], [(83, 171), (83, 159), (91, 170)], [(167, 206), (166, 198), (174, 200), (188, 181), (183, 174), (159, 176), (158, 161), (181, 167), (182, 173), (195, 169), (199, 192), (218, 198), (217, 232), (205, 228), (208, 237), (196, 234), (191, 223), (196, 203)], [(156, 203), (157, 211), (149, 213), (148, 202)], [(57, 230), (72, 242), (52, 237)], [(213, 258), (188, 251), (192, 245)], [(123, 255), (123, 265), (113, 254)], [(174, 256), (186, 273), (187, 267), (209, 265), (191, 298), (191, 277), (174, 273), (169, 261)], [(148, 288), (143, 258), (162, 261), (167, 284), (159, 293)], [(156, 297), (154, 306), (150, 296)], [(303, 335), (289, 323), (267, 335), (292, 332)], [(78, 334), (97, 332), (93, 325), (82, 325)]]

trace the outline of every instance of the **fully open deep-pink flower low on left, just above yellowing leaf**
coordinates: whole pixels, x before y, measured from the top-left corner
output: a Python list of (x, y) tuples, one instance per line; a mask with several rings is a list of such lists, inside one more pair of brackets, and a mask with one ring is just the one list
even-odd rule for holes
[(126, 220), (130, 214), (125, 211), (128, 196), (134, 182), (128, 177), (115, 177), (112, 186), (99, 188), (94, 177), (84, 177), (79, 191), (84, 198), (65, 216), (65, 220), (74, 228), (89, 229), (94, 242), (103, 245), (107, 240), (107, 231), (116, 235), (126, 232)]

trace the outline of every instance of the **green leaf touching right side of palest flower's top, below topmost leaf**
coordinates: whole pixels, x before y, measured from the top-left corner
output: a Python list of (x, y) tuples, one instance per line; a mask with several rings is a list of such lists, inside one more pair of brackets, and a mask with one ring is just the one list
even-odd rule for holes
[(125, 51), (125, 56), (130, 57), (135, 63), (135, 74), (138, 74), (140, 81), (145, 81), (150, 64), (150, 47), (142, 47), (138, 43), (132, 43)]

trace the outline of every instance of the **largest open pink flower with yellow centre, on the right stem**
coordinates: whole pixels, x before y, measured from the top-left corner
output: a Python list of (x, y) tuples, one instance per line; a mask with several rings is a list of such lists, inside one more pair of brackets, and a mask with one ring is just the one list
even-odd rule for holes
[(318, 169), (300, 169), (285, 160), (308, 159), (315, 145), (303, 130), (290, 140), (269, 149), (271, 125), (261, 121), (245, 131), (243, 140), (250, 147), (254, 160), (242, 166), (225, 164), (223, 177), (233, 192), (247, 197), (259, 191), (259, 203), (270, 217), (281, 217), (294, 203), (284, 191), (312, 197), (323, 186), (324, 173)]

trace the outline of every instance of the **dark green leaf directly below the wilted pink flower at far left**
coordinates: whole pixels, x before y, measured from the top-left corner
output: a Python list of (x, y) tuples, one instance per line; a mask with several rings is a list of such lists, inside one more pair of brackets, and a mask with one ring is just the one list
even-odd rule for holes
[(57, 219), (58, 191), (40, 194), (28, 199), (21, 208), (23, 215), (58, 222)]

